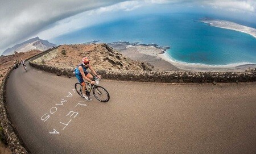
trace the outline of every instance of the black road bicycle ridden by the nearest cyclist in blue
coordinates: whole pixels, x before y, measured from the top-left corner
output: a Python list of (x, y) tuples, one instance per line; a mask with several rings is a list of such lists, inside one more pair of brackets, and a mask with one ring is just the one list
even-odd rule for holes
[[(93, 91), (93, 95), (96, 99), (98, 99), (98, 101), (101, 102), (108, 102), (110, 99), (110, 95), (109, 92), (103, 88), (102, 86), (99, 86), (99, 82), (100, 82), (101, 78), (96, 78), (93, 77), (92, 81), (95, 81), (96, 84), (92, 85), (89, 82), (85, 82), (85, 85), (87, 85), (87, 87), (85, 86), (85, 92), (86, 95), (89, 97), (90, 96), (90, 91)], [(83, 97), (82, 95), (82, 85), (80, 83), (76, 83), (75, 84), (75, 89), (77, 91), (77, 93)]]

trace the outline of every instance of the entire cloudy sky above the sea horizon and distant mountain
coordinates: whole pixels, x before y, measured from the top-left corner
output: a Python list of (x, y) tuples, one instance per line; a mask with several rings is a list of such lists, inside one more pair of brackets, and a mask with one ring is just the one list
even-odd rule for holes
[(0, 0), (0, 4), (0, 55), (36, 36), (54, 40), (81, 28), (138, 14), (207, 13), (256, 25), (255, 0)]

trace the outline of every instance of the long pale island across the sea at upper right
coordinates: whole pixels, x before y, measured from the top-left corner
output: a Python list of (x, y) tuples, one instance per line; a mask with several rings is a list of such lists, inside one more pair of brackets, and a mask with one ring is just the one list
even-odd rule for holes
[(218, 19), (213, 19), (209, 17), (199, 19), (198, 21), (203, 23), (208, 23), (209, 26), (244, 32), (256, 38), (256, 29), (252, 27), (247, 27), (247, 26), (243, 26), (241, 24), (229, 22), (226, 20), (218, 20)]

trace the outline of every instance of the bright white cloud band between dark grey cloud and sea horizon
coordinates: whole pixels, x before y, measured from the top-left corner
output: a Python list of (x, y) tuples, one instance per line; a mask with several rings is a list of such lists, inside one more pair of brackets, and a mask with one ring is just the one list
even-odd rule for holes
[(126, 1), (85, 11), (69, 18), (59, 20), (48, 29), (39, 32), (39, 34), (36, 35), (40, 38), (52, 39), (69, 32), (79, 30), (80, 28), (90, 27), (95, 24), (121, 18), (125, 16), (125, 14), (120, 13), (121, 11), (128, 12), (138, 9), (139, 7), (142, 7), (142, 3), (139, 3), (138, 1)]

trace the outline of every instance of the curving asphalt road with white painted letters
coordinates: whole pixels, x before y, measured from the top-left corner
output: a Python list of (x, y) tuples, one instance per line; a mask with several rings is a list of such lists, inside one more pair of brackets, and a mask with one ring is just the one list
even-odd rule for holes
[(76, 94), (76, 78), (27, 67), (6, 101), (31, 153), (256, 153), (256, 83), (102, 80), (102, 103)]

